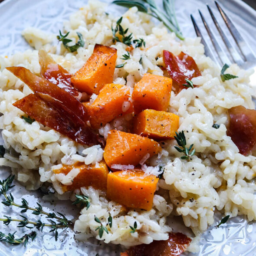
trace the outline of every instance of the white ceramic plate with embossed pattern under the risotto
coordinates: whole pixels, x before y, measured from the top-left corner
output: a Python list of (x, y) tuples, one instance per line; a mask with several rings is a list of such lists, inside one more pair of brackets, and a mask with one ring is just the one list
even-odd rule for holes
[[(160, 0), (158, 1), (159, 3), (161, 2)], [(21, 36), (21, 31), (28, 26), (38, 27), (57, 35), (59, 29), (62, 29), (62, 22), (67, 20), (71, 13), (85, 5), (86, 2), (87, 0), (3, 1), (0, 4), (0, 55), (7, 56), (30, 48)], [(105, 0), (105, 2), (111, 1)], [(256, 11), (241, 0), (220, 0), (219, 2), (255, 53)], [(197, 9), (203, 11), (209, 25), (213, 27), (210, 15), (207, 12), (206, 3), (213, 7), (214, 13), (226, 31), (226, 26), (224, 26), (213, 0), (176, 0), (177, 16), (184, 36), (195, 36), (190, 21), (190, 13), (200, 21)], [(108, 7), (108, 12), (115, 12), (116, 15), (121, 15), (124, 11), (125, 9), (121, 7), (113, 5)], [(203, 25), (201, 28), (203, 33), (206, 34)], [(214, 31), (218, 37), (217, 31)], [(233, 42), (231, 38), (230, 40)], [(0, 168), (0, 179), (8, 175), (7, 169)], [(77, 209), (70, 207), (70, 202), (58, 202), (56, 205), (50, 204), (42, 200), (42, 194), (39, 192), (31, 193), (19, 184), (15, 184), (16, 187), (13, 188), (13, 195), (17, 199), (24, 197), (32, 205), (35, 205), (36, 201), (39, 200), (46, 209), (65, 212), (69, 218), (76, 217), (78, 214)], [(4, 214), (13, 215), (13, 212), (11, 213), (10, 210), (8, 207), (3, 207), (0, 204), (0, 216)], [(33, 217), (34, 215), (32, 215)], [(217, 213), (216, 223), (222, 217), (221, 214)], [(11, 232), (16, 230), (15, 226), (7, 227), (0, 223), (0, 231), (4, 230), (4, 232), (7, 232), (9, 231), (8, 229)], [(119, 246), (105, 245), (103, 242), (96, 240), (79, 243), (74, 240), (74, 232), (72, 230), (60, 233), (57, 242), (55, 242), (50, 234), (39, 232), (37, 239), (33, 243), (28, 244), (26, 248), (23, 246), (8, 246), (0, 242), (0, 256), (95, 256), (96, 253), (99, 253), (100, 256), (114, 256), (119, 255), (120, 251), (121, 248)], [(236, 217), (229, 220), (227, 224), (224, 224), (219, 229), (216, 229), (213, 225), (201, 237), (200, 252), (198, 254), (185, 253), (184, 255), (256, 256), (256, 223)]]

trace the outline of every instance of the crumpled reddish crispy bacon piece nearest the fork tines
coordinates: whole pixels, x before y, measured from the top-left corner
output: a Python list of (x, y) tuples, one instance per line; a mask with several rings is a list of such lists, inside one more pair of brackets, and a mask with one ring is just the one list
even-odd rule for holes
[(191, 80), (193, 77), (201, 75), (194, 59), (181, 52), (178, 56), (164, 50), (164, 64), (168, 74), (173, 80), (172, 88), (175, 93), (180, 92), (182, 89), (187, 89), (183, 84), (187, 84), (185, 79)]

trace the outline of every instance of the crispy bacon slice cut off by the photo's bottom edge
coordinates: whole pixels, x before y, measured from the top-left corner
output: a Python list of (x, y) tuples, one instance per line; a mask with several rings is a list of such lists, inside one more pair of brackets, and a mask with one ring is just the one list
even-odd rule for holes
[(190, 244), (191, 239), (182, 233), (169, 233), (168, 240), (133, 246), (121, 256), (178, 256)]

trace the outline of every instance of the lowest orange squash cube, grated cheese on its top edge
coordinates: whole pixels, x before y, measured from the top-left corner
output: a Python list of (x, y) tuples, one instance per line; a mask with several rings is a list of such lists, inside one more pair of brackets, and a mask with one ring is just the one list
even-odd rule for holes
[(158, 178), (144, 171), (116, 171), (108, 174), (107, 196), (126, 207), (151, 210)]

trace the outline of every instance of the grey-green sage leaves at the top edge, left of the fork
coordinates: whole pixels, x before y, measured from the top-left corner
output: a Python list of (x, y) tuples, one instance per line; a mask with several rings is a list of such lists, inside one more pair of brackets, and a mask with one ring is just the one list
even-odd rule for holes
[(177, 23), (174, 0), (163, 0), (164, 12), (155, 2), (154, 0), (115, 0), (112, 3), (128, 8), (136, 6), (140, 12), (148, 13), (159, 21), (162, 21), (178, 38), (184, 40), (181, 29)]

